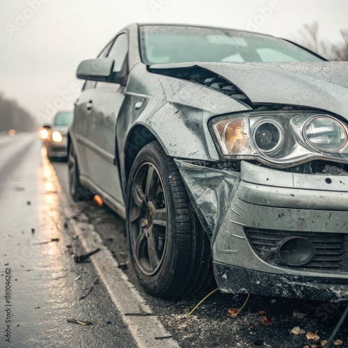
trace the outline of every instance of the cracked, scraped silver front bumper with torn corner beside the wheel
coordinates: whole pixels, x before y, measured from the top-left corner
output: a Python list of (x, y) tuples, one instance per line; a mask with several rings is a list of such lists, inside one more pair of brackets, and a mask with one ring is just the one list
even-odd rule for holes
[[(348, 299), (348, 177), (277, 171), (242, 161), (241, 173), (176, 160), (212, 242), (222, 292)], [(290, 267), (276, 250), (287, 237), (316, 248)]]

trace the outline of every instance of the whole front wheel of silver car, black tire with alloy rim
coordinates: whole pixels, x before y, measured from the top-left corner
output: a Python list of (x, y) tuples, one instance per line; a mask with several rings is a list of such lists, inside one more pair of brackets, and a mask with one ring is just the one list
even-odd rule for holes
[(209, 239), (177, 166), (157, 141), (145, 145), (132, 165), (127, 236), (136, 276), (151, 294), (195, 294), (212, 283)]

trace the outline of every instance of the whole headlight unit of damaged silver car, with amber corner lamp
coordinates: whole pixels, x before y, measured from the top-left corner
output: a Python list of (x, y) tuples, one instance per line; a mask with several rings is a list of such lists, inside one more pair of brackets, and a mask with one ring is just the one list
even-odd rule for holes
[(286, 168), (310, 159), (348, 163), (344, 122), (313, 111), (251, 111), (209, 122), (221, 157)]

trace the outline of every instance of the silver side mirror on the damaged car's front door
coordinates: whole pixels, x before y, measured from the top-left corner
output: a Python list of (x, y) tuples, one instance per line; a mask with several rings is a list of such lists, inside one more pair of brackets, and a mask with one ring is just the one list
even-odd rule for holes
[(95, 58), (82, 61), (77, 68), (77, 78), (92, 81), (111, 81), (113, 79), (113, 58)]

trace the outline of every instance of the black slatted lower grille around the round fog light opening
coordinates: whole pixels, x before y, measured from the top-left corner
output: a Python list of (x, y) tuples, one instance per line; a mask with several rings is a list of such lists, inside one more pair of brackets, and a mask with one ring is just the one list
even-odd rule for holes
[(287, 237), (303, 237), (312, 242), (316, 254), (310, 262), (301, 266), (302, 269), (348, 271), (348, 234), (246, 228), (246, 235), (255, 251), (271, 264), (283, 265), (278, 256), (281, 242)]

